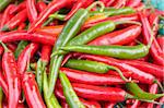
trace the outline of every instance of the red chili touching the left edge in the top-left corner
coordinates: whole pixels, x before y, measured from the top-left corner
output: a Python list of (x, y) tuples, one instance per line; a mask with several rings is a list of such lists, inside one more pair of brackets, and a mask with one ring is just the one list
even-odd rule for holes
[(9, 7), (7, 7), (7, 9), (4, 10), (2, 17), (1, 17), (1, 22), (0, 22), (0, 29), (4, 26), (4, 24), (11, 19), (11, 11), (15, 8), (14, 4), (10, 4)]

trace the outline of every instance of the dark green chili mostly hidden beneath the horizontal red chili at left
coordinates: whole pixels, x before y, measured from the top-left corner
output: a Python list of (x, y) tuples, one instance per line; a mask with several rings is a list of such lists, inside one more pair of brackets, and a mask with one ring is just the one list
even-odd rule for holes
[(25, 41), (25, 40), (21, 40), (21, 41), (19, 43), (17, 48), (16, 48), (16, 50), (14, 51), (14, 56), (15, 56), (16, 59), (19, 58), (20, 53), (22, 52), (22, 50), (23, 50), (27, 45), (28, 45), (28, 43)]

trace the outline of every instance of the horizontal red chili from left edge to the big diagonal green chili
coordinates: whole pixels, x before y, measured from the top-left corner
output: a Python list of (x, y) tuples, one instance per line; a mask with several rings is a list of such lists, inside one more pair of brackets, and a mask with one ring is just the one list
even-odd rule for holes
[(11, 43), (16, 40), (31, 40), (34, 43), (40, 43), (40, 44), (54, 46), (56, 39), (57, 36), (47, 33), (40, 33), (40, 32), (28, 34), (25, 31), (13, 31), (0, 35), (0, 40), (3, 43)]

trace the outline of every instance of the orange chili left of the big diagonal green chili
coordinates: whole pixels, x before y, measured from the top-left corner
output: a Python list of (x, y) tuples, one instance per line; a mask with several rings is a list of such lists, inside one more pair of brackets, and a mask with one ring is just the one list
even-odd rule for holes
[(44, 26), (42, 28), (37, 28), (36, 32), (45, 32), (52, 35), (59, 35), (63, 28), (63, 25), (56, 26)]

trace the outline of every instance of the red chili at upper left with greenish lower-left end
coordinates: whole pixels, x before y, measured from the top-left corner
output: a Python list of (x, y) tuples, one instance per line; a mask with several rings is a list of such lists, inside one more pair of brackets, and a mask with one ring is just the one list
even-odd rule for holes
[(12, 17), (2, 28), (1, 31), (11, 31), (19, 26), (21, 23), (24, 23), (26, 21), (26, 9), (19, 12), (14, 17)]

